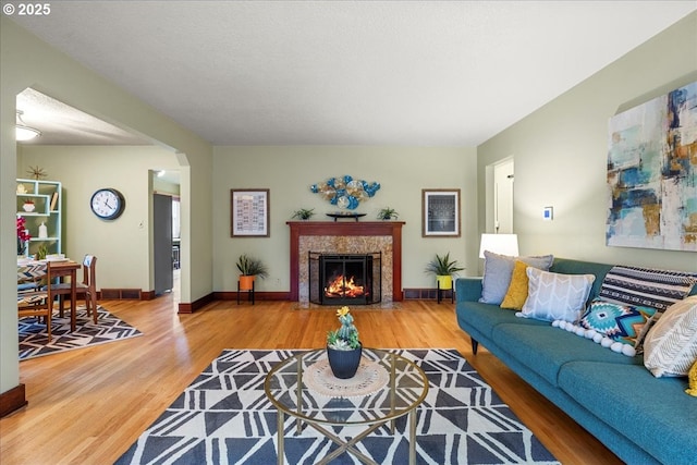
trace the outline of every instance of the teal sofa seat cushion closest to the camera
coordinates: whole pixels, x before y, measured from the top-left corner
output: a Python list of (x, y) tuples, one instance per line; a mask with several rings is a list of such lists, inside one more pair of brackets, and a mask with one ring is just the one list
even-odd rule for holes
[(697, 463), (697, 402), (685, 395), (686, 379), (656, 379), (640, 364), (572, 360), (559, 387), (659, 462)]

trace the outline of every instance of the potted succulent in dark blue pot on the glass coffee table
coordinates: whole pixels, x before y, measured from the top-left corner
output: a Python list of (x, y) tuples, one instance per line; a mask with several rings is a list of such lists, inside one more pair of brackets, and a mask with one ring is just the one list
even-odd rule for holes
[(327, 357), (337, 378), (353, 378), (360, 365), (363, 345), (358, 341), (358, 329), (353, 323), (348, 307), (337, 310), (341, 328), (327, 333)]

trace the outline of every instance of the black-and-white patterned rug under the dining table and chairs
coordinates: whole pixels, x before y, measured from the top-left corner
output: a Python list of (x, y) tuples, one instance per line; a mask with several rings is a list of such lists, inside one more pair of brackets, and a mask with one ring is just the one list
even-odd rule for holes
[(51, 318), (49, 344), (46, 325), (34, 317), (20, 318), (20, 360), (142, 335), (140, 331), (114, 317), (102, 306), (97, 307), (98, 325), (95, 325), (91, 316), (87, 316), (84, 306), (77, 307), (75, 321), (75, 331), (71, 331), (70, 311), (65, 311), (63, 318), (54, 314)]

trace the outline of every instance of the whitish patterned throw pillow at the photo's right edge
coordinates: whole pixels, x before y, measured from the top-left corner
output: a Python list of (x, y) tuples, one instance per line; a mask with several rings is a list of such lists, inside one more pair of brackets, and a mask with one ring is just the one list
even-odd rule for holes
[(651, 374), (687, 376), (697, 360), (697, 295), (671, 305), (644, 341), (644, 366)]

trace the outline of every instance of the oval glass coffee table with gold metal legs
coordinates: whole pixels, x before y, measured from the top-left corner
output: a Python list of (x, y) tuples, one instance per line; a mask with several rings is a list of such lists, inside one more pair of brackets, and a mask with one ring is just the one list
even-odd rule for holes
[[(284, 463), (285, 417), (296, 418), (297, 433), (309, 425), (339, 448), (318, 464), (327, 464), (344, 452), (360, 462), (377, 464), (355, 444), (376, 429), (408, 415), (409, 464), (416, 463), (416, 407), (428, 393), (426, 374), (414, 362), (378, 348), (363, 348), (358, 372), (351, 380), (331, 375), (327, 351), (318, 348), (293, 355), (276, 365), (266, 377), (264, 391), (278, 408), (278, 463)], [(370, 396), (370, 406), (365, 406)], [(344, 440), (332, 427), (363, 427)]]

